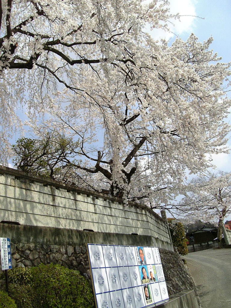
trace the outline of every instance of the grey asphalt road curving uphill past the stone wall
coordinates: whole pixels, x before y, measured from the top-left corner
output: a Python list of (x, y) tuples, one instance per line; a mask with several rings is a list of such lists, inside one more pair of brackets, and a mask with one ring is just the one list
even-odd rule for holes
[(206, 249), (183, 258), (196, 284), (201, 308), (231, 307), (231, 249)]

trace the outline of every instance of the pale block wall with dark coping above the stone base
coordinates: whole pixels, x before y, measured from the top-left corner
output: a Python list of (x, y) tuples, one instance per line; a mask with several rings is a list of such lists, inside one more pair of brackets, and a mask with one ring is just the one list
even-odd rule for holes
[[(137, 234), (173, 251), (164, 220), (147, 206), (0, 167), (0, 222), (99, 234)], [(110, 238), (110, 237), (109, 237)], [(109, 243), (108, 243), (109, 244)], [(127, 245), (127, 242), (120, 242)]]

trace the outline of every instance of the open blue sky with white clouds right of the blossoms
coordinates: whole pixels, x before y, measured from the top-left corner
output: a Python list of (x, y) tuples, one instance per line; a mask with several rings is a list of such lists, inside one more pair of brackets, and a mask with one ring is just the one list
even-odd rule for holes
[[(213, 51), (222, 57), (221, 62), (231, 62), (231, 0), (169, 0), (169, 2), (171, 13), (178, 12), (182, 16), (180, 21), (175, 22), (175, 27), (171, 26), (173, 33), (186, 40), (193, 32), (199, 41), (205, 41), (212, 35)], [(156, 38), (159, 35), (170, 39), (170, 42), (174, 40), (174, 35), (166, 36), (160, 31), (153, 34)], [(231, 97), (231, 91), (227, 94)], [(231, 115), (226, 121), (231, 123)], [(229, 137), (231, 138), (231, 134)], [(231, 139), (228, 143), (231, 147)], [(213, 155), (213, 163), (218, 170), (231, 172), (231, 154)]]

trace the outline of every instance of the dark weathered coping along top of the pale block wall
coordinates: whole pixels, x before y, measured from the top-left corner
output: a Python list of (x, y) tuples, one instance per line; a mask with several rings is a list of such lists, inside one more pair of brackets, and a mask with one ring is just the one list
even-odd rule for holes
[[(99, 192), (87, 190), (87, 189), (80, 188), (80, 187), (73, 186), (73, 185), (69, 185), (69, 184), (66, 184), (66, 183), (63, 183), (63, 182), (47, 179), (47, 178), (44, 178), (43, 176), (32, 175), (32, 174), (27, 173), (27, 172), (22, 172), (21, 170), (17, 170), (17, 169), (14, 169), (14, 168), (9, 168), (9, 167), (5, 167), (5, 166), (0, 165), (0, 175), (4, 175), (4, 174), (16, 176), (16, 177), (19, 178), (18, 180), (21, 180), (21, 178), (23, 178), (26, 181), (35, 181), (35, 182), (39, 182), (39, 183), (42, 183), (42, 184), (54, 186), (54, 187), (57, 187), (57, 188), (63, 188), (63, 189), (66, 189), (67, 191), (84, 193), (87, 196), (101, 197), (101, 198), (107, 199), (108, 201), (113, 201), (113, 202), (118, 202), (118, 203), (123, 204), (122, 198), (112, 197), (112, 196), (104, 194), (104, 193), (99, 193)], [(160, 217), (157, 213), (155, 213), (147, 205), (136, 203), (136, 202), (129, 202), (129, 205), (136, 207), (136, 208), (144, 209), (147, 212), (151, 213), (155, 218), (157, 218), (160, 221), (165, 223), (165, 221), (162, 219), (162, 217)]]

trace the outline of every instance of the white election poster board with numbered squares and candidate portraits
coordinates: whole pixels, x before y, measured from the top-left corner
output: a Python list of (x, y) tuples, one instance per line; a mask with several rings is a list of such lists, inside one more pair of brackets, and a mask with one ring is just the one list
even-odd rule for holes
[(156, 307), (169, 299), (158, 247), (87, 244), (98, 308)]

